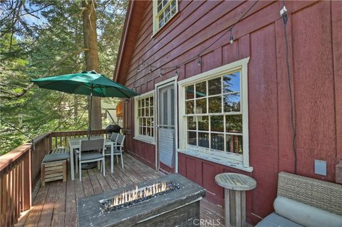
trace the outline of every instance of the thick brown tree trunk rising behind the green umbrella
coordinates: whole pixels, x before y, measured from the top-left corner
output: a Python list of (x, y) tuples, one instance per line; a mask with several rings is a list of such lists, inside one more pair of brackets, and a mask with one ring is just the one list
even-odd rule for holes
[[(99, 73), (98, 60), (98, 36), (96, 33), (96, 12), (95, 0), (83, 0), (83, 38), (86, 56), (86, 70), (95, 70)], [(90, 98), (88, 97), (88, 113), (90, 116)], [(90, 126), (92, 130), (102, 129), (101, 100), (100, 97), (93, 97)], [(90, 118), (90, 117), (89, 117)]]

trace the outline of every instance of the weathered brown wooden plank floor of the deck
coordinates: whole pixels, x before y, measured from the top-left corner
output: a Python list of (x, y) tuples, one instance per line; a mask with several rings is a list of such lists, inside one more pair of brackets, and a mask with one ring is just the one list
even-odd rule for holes
[[(33, 207), (19, 219), (16, 226), (77, 226), (76, 199), (91, 194), (155, 179), (161, 173), (147, 167), (142, 162), (124, 154), (125, 169), (115, 163), (114, 173), (110, 173), (109, 158), (106, 159), (106, 174), (98, 169), (83, 170), (83, 180), (71, 181), (68, 168), (68, 181), (53, 181), (33, 193)], [(70, 166), (69, 166), (70, 167)], [(77, 175), (76, 175), (77, 176)], [(201, 201), (201, 226), (224, 226), (224, 211), (206, 199)]]

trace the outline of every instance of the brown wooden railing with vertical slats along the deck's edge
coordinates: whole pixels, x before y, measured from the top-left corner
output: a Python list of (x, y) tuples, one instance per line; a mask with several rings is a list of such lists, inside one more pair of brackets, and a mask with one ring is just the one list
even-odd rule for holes
[[(91, 135), (105, 135), (93, 130)], [(88, 132), (48, 132), (0, 157), (0, 227), (14, 226), (20, 213), (31, 208), (31, 194), (38, 185), (41, 162), (56, 147), (68, 147), (68, 139), (86, 137)]]

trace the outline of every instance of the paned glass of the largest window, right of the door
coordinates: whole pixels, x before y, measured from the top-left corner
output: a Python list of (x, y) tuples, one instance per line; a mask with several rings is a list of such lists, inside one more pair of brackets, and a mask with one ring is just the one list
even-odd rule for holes
[(237, 154), (232, 159), (242, 161), (240, 74), (238, 70), (185, 86), (188, 147)]

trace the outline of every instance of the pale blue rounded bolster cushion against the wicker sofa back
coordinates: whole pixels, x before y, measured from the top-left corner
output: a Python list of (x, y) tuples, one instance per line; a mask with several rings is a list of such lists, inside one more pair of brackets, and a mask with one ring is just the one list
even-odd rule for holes
[(278, 196), (274, 200), (274, 211), (302, 226), (342, 226), (342, 216), (282, 196)]

